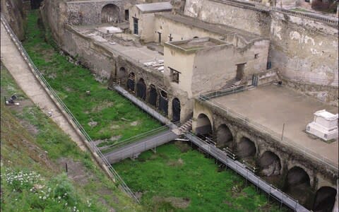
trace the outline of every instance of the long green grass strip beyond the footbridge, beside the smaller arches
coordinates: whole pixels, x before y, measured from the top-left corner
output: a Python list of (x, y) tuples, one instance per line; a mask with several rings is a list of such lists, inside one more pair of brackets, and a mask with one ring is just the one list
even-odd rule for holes
[(69, 62), (45, 40), (51, 40), (50, 33), (37, 25), (37, 11), (32, 11), (23, 45), (93, 140), (105, 140), (108, 145), (161, 126), (129, 100), (107, 90), (105, 83), (95, 81), (88, 69)]

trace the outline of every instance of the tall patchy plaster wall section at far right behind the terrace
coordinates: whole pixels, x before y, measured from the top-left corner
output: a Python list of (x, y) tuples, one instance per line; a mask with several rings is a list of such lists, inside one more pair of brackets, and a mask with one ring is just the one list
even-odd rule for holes
[(287, 78), (338, 86), (338, 28), (272, 13), (273, 67)]

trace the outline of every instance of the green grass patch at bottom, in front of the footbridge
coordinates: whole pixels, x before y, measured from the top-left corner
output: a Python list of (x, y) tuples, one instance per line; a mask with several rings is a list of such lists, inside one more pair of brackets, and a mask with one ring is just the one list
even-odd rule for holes
[(147, 211), (279, 211), (253, 185), (246, 187), (244, 178), (186, 143), (167, 144), (114, 167), (142, 194)]

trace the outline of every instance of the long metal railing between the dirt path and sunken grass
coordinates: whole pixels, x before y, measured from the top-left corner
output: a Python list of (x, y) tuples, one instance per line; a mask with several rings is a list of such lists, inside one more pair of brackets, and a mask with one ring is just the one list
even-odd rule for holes
[[(64, 112), (66, 112), (66, 114), (68, 114), (68, 118), (69, 120), (71, 120), (71, 122), (73, 124), (75, 124), (75, 126), (78, 128), (78, 130), (81, 132), (81, 134), (85, 137), (85, 139), (87, 140), (87, 142), (90, 144), (90, 151), (92, 153), (97, 153), (97, 155), (99, 155), (99, 157), (101, 158), (102, 162), (107, 166), (108, 170), (112, 173), (112, 175), (114, 176), (114, 180), (116, 180), (117, 182), (119, 182), (119, 186), (121, 187), (121, 189), (128, 194), (129, 196), (131, 196), (137, 203), (140, 203), (138, 198), (133, 194), (133, 192), (131, 192), (131, 189), (129, 189), (129, 187), (126, 185), (126, 183), (124, 182), (124, 180), (119, 176), (119, 174), (117, 173), (116, 170), (114, 170), (114, 168), (112, 167), (112, 165), (108, 162), (108, 160), (105, 158), (105, 155), (103, 155), (100, 151), (99, 148), (97, 148), (97, 146), (95, 146), (95, 143), (93, 142), (93, 140), (90, 138), (90, 136), (87, 134), (87, 132), (85, 131), (85, 129), (83, 129), (83, 126), (81, 126), (81, 124), (78, 122), (78, 120), (76, 119), (76, 117), (74, 117), (73, 113), (71, 112), (71, 110), (69, 110), (69, 108), (64, 104), (64, 102), (59, 98), (59, 96), (57, 95), (57, 93), (54, 91), (54, 89), (52, 88), (52, 86), (49, 85), (49, 83), (46, 81), (46, 79), (44, 78), (44, 76), (42, 76), (42, 73), (40, 73), (40, 71), (37, 69), (37, 67), (35, 66), (35, 64), (33, 63), (33, 61), (30, 59), (30, 56), (28, 55), (28, 53), (25, 51), (25, 48), (23, 47), (23, 45), (21, 44), (20, 40), (18, 40), (18, 37), (16, 37), (16, 34), (13, 33), (13, 30), (11, 29), (11, 27), (8, 25), (7, 20), (4, 18), (4, 16), (1, 14), (1, 22), (4, 24), (4, 27), (6, 28), (8, 35), (11, 36), (11, 39), (13, 40), (13, 42), (16, 44), (16, 46), (18, 47), (19, 52), (22, 54), (23, 59), (25, 59), (25, 61), (28, 63), (28, 66), (30, 66), (30, 69), (32, 71), (33, 74), (35, 74), (35, 77), (37, 78), (38, 81), (40, 81), (40, 83), (42, 83), (42, 86), (45, 86), (45, 88), (47, 88), (47, 90), (49, 91), (49, 96), (52, 98), (52, 100), (56, 101), (56, 105), (57, 107), (59, 107), (59, 109), (62, 111), (64, 110)], [(52, 95), (51, 95), (52, 94)], [(59, 105), (58, 105), (59, 104)], [(60, 108), (61, 107), (61, 108)], [(86, 141), (85, 141), (86, 142)]]

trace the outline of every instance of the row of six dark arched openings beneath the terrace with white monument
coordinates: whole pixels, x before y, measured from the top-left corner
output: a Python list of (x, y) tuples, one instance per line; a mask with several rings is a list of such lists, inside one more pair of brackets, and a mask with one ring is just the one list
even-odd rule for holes
[[(213, 125), (206, 114), (199, 114), (196, 119), (195, 132), (198, 136), (213, 135)], [(234, 142), (232, 131), (226, 124), (220, 124), (217, 127), (215, 136), (215, 146), (218, 148), (230, 148), (237, 154), (238, 160), (244, 158), (255, 158), (258, 155), (256, 143), (251, 139), (242, 136), (238, 142)], [(273, 151), (265, 151), (259, 157), (257, 164), (259, 166), (259, 175), (266, 177), (282, 177), (282, 161)], [(332, 211), (335, 204), (336, 189), (333, 187), (321, 187), (316, 191), (313, 204), (309, 204), (314, 194), (311, 187), (309, 174), (299, 166), (290, 168), (283, 180), (283, 191), (294, 196), (302, 204), (307, 204), (313, 211)]]

